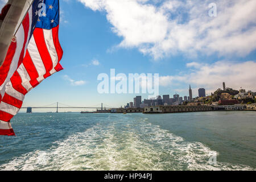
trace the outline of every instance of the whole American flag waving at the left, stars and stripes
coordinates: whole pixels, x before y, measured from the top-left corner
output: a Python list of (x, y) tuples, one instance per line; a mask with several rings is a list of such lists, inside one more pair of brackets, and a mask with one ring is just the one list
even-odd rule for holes
[(0, 67), (0, 135), (15, 135), (10, 120), (22, 107), (24, 96), (63, 69), (58, 32), (59, 1), (34, 0)]

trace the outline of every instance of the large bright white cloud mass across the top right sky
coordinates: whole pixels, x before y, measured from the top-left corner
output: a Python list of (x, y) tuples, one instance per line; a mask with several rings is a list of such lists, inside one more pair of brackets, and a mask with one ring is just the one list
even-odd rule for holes
[(256, 49), (256, 1), (215, 1), (217, 17), (208, 15), (212, 0), (78, 0), (105, 11), (119, 47), (138, 48), (155, 59), (183, 52), (246, 56)]

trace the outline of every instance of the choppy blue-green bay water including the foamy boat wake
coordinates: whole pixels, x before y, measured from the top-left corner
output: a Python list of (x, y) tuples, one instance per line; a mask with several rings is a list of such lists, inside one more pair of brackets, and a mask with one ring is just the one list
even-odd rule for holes
[(17, 137), (0, 137), (0, 170), (255, 170), (255, 116), (18, 114)]

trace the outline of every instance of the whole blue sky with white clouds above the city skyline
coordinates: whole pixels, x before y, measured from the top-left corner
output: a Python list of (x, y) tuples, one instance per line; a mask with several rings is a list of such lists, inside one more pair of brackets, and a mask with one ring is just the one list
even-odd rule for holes
[[(2, 1), (2, 0), (1, 0)], [(210, 17), (209, 3), (217, 17)], [(24, 106), (125, 105), (137, 94), (98, 94), (97, 76), (159, 73), (159, 92), (256, 91), (256, 6), (241, 1), (60, 0), (64, 70), (31, 90)], [(147, 95), (143, 94), (143, 98)]]

